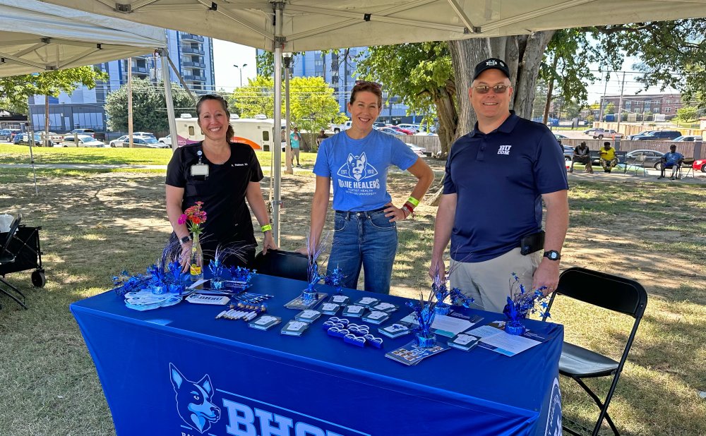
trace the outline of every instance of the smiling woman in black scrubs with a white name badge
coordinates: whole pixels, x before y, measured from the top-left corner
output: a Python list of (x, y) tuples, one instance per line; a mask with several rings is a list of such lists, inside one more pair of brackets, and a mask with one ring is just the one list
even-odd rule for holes
[(202, 224), (204, 259), (213, 258), (219, 244), (242, 243), (250, 245), (244, 252), (245, 261), (232, 258), (230, 262), (250, 266), (257, 241), (248, 205), (262, 226), (263, 252), (277, 248), (260, 190), (260, 162), (249, 145), (229, 142), (234, 132), (223, 97), (203, 95), (196, 104), (196, 116), (205, 138), (174, 150), (167, 165), (167, 217), (174, 230), (172, 237), (181, 242), (181, 265), (186, 271), (192, 241), (186, 224), (179, 224), (179, 217), (201, 201), (208, 216)]

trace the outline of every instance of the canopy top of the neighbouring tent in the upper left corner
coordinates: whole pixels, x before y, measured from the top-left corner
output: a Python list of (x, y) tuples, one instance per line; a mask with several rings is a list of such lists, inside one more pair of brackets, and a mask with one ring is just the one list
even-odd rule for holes
[(164, 30), (35, 0), (0, 0), (0, 77), (92, 65), (167, 47)]

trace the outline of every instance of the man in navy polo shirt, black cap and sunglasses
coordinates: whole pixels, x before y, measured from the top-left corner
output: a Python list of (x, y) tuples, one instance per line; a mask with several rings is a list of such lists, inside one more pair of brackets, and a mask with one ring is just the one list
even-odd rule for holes
[[(479, 63), (468, 95), (478, 122), (456, 140), (446, 162), (429, 274), (445, 272), (451, 241), (451, 284), (485, 310), (502, 312), (513, 272), (525, 287), (556, 289), (568, 227), (566, 166), (546, 126), (510, 111), (513, 87), (504, 61)], [(542, 230), (542, 200), (544, 245), (522, 255), (522, 238)]]

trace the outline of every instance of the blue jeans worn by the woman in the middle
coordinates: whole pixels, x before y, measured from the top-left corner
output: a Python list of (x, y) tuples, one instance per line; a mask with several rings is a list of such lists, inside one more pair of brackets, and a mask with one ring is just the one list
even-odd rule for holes
[(334, 219), (328, 274), (339, 267), (343, 286), (357, 289), (361, 267), (366, 291), (390, 293), (390, 277), (397, 252), (397, 225), (383, 210), (339, 212)]

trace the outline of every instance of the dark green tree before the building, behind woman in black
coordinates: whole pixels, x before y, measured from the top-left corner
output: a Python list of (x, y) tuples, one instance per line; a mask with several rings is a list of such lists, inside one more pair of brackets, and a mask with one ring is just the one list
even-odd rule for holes
[[(167, 102), (164, 100), (164, 83), (153, 84), (148, 79), (133, 79), (133, 130), (159, 132), (169, 131), (167, 119)], [(172, 83), (172, 100), (174, 108), (196, 108), (196, 102), (191, 99), (184, 88), (178, 83)], [(108, 128), (111, 131), (128, 130), (128, 93), (127, 85), (111, 92), (105, 98), (105, 114)], [(179, 116), (179, 109), (176, 109)], [(196, 116), (196, 109), (190, 111)]]

